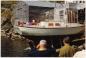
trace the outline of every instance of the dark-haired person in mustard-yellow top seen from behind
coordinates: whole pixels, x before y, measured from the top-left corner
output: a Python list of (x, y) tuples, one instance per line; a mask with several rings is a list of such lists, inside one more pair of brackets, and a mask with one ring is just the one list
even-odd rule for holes
[(69, 37), (64, 38), (64, 46), (60, 48), (59, 56), (60, 57), (72, 57), (75, 53), (74, 48), (70, 45)]

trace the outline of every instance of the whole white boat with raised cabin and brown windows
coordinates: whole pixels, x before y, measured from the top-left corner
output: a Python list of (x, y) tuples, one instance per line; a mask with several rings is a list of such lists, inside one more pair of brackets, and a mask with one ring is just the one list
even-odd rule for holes
[(39, 25), (14, 26), (14, 30), (20, 35), (31, 36), (71, 35), (80, 33), (84, 26), (78, 23), (41, 22)]

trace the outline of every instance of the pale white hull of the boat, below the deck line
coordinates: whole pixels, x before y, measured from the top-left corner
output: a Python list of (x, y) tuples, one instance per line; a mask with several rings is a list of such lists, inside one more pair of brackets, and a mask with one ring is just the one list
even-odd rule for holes
[(71, 35), (80, 33), (84, 30), (83, 26), (63, 27), (63, 28), (38, 28), (38, 27), (18, 27), (15, 26), (15, 32), (21, 35), (48, 36), (48, 35)]

